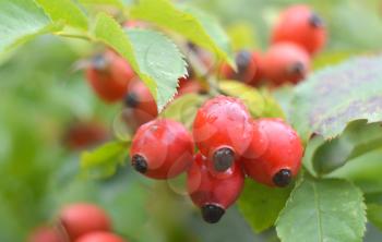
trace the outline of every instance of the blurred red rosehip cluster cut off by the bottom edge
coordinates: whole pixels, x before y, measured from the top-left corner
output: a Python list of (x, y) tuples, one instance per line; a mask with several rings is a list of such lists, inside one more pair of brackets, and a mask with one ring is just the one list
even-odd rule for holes
[(80, 203), (63, 207), (53, 227), (39, 227), (28, 242), (127, 242), (111, 232), (107, 213), (97, 205)]

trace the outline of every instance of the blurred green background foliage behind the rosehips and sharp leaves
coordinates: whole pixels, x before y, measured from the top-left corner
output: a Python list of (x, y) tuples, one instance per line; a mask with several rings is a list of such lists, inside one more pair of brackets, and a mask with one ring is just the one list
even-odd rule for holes
[[(237, 49), (264, 50), (278, 12), (297, 1), (183, 2), (215, 15)], [(381, 50), (381, 0), (298, 2), (311, 4), (330, 31), (317, 69)], [(102, 181), (79, 176), (80, 153), (62, 143), (68, 125), (96, 119), (114, 132), (121, 109), (97, 100), (83, 73), (73, 70), (93, 48), (83, 40), (43, 36), (0, 56), (0, 241), (24, 241), (34, 227), (52, 221), (62, 204), (80, 201), (105, 207), (129, 241), (277, 241), (272, 230), (254, 234), (235, 207), (220, 223), (204, 223), (177, 181), (152, 182), (129, 166)], [(381, 238), (369, 227), (366, 241)]]

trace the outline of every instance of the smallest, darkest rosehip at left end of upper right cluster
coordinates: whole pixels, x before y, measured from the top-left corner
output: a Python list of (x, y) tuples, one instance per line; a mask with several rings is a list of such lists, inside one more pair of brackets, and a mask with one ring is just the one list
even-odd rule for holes
[(237, 72), (227, 63), (222, 65), (222, 77), (228, 80), (238, 80), (244, 83), (251, 83), (256, 73), (256, 62), (250, 51), (241, 50), (236, 55)]

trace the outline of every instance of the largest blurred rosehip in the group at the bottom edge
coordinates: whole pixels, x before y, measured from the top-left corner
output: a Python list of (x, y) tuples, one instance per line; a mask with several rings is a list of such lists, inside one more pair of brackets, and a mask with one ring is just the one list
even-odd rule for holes
[(108, 231), (111, 222), (106, 211), (94, 204), (71, 204), (62, 208), (60, 222), (71, 240), (93, 231)]

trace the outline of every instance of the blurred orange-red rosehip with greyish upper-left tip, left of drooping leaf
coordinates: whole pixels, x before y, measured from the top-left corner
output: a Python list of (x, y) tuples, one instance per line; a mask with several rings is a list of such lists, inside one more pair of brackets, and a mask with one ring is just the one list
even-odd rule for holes
[(122, 100), (134, 76), (129, 63), (111, 50), (94, 57), (86, 70), (88, 83), (106, 102)]

